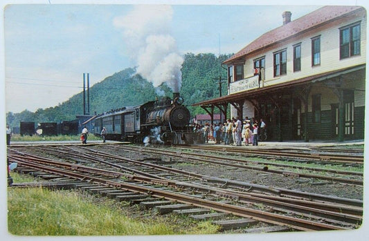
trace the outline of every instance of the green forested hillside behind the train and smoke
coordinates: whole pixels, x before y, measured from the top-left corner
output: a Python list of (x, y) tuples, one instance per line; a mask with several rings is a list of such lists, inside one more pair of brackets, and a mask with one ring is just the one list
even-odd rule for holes
[[(181, 96), (192, 116), (205, 113), (192, 104), (206, 99), (219, 97), (219, 76), (226, 77), (226, 69), (220, 64), (230, 55), (186, 54), (182, 65)], [(226, 95), (226, 83), (222, 86), (222, 95)], [(90, 114), (123, 106), (134, 106), (155, 99), (157, 93), (172, 97), (172, 91), (163, 84), (154, 88), (152, 83), (136, 74), (134, 68), (126, 68), (111, 75), (90, 88)], [(83, 115), (83, 93), (74, 95), (59, 106), (38, 109), (35, 113), (24, 110), (21, 113), (7, 113), (6, 121), (11, 127), (19, 122), (62, 122), (73, 120), (75, 115)]]

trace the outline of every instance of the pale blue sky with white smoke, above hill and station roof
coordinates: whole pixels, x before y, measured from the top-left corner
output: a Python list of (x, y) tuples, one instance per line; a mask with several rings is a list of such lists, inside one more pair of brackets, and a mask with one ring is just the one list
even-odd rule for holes
[[(136, 4), (147, 2), (154, 4)], [(3, 5), (6, 113), (62, 104), (82, 92), (83, 73), (89, 73), (93, 86), (120, 70), (137, 67), (154, 86), (175, 76), (179, 83), (168, 85), (180, 88), (180, 66), (187, 52), (237, 52), (282, 26), (282, 12), (292, 12), (294, 20), (324, 1), (301, 1), (298, 6), (292, 1), (255, 6), (241, 0), (17, 3), (22, 4)], [(172, 69), (163, 70), (167, 66)]]

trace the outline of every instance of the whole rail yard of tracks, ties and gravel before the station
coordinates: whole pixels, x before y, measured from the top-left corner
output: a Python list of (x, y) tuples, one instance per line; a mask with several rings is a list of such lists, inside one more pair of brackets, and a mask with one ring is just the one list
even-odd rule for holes
[(358, 229), (363, 148), (13, 144), (14, 171), (42, 178), (10, 188), (83, 189), (213, 220), (219, 233)]

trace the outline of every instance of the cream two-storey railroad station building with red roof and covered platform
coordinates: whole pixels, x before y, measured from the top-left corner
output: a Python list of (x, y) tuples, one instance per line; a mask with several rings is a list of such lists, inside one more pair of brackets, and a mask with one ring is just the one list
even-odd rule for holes
[(262, 118), (269, 140), (363, 139), (366, 10), (325, 6), (291, 15), (283, 12), (282, 26), (224, 61), (228, 95), (194, 106)]

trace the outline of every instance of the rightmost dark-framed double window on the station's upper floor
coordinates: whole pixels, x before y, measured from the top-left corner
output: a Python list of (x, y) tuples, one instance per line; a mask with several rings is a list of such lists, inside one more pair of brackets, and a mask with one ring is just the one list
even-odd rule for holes
[(341, 28), (340, 39), (340, 59), (360, 55), (360, 23)]

